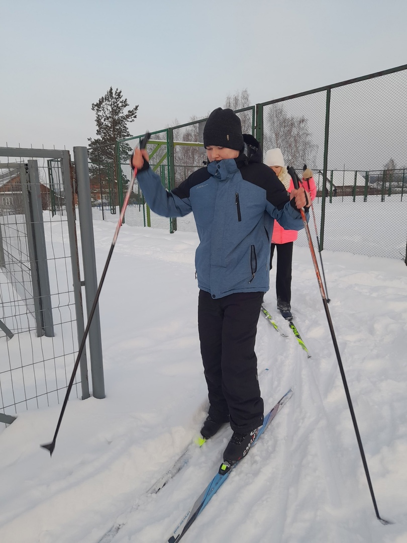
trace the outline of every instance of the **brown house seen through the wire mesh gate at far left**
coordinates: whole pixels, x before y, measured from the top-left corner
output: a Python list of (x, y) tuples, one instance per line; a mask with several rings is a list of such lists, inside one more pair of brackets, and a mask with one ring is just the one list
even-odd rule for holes
[[(40, 183), (42, 210), (50, 207), (50, 190), (47, 185)], [(58, 197), (61, 199), (61, 197)], [(23, 195), (21, 191), (20, 172), (9, 169), (0, 174), (0, 213), (22, 213)]]

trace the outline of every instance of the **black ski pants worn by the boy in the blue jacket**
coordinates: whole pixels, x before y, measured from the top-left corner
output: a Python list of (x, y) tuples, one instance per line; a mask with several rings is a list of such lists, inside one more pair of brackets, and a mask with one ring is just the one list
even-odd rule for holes
[(198, 329), (208, 386), (209, 415), (246, 433), (263, 424), (255, 353), (263, 292), (212, 299), (199, 291)]

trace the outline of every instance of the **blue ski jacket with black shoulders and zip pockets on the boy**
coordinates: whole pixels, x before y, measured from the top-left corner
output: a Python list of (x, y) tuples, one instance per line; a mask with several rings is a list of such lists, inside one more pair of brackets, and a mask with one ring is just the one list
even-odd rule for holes
[[(246, 137), (246, 136), (245, 136)], [(163, 217), (194, 213), (199, 246), (198, 286), (212, 298), (269, 290), (270, 243), (274, 219), (287, 230), (304, 228), (300, 212), (257, 152), (249, 159), (211, 162), (168, 192), (148, 162), (137, 180), (150, 209)], [(308, 212), (307, 212), (308, 220)]]

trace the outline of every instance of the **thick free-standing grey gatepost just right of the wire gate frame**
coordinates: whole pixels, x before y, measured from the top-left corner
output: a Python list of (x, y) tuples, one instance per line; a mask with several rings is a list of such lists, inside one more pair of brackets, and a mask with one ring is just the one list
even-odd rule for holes
[[(73, 155), (78, 184), (78, 211), (84, 266), (86, 310), (89, 318), (98, 290), (98, 281), (96, 274), (96, 258), (94, 254), (91, 185), (87, 148), (74, 147)], [(94, 311), (92, 324), (89, 329), (89, 350), (91, 357), (92, 392), (94, 397), (101, 399), (105, 397), (105, 382), (98, 305)]]

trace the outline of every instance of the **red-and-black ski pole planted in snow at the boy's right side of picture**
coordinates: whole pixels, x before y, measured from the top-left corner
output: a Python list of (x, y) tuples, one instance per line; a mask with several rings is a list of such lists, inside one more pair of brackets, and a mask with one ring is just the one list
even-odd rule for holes
[[(297, 176), (297, 174), (295, 172), (295, 169), (292, 168), (292, 167), (289, 167), (288, 168), (288, 173), (291, 175), (292, 182), (294, 183), (294, 187), (299, 188), (300, 183), (299, 183), (298, 176)], [(370, 494), (372, 496), (374, 512), (376, 513), (376, 516), (377, 516), (378, 520), (382, 524), (391, 524), (390, 521), (382, 519), (380, 517), (380, 515), (379, 515), (379, 510), (377, 508), (376, 498), (374, 497), (372, 481), (370, 479), (369, 470), (368, 470), (368, 467), (367, 467), (365, 452), (363, 450), (363, 444), (362, 444), (362, 440), (361, 440), (360, 433), (359, 433), (358, 423), (357, 423), (355, 412), (354, 412), (354, 409), (353, 409), (351, 394), (349, 393), (348, 384), (346, 382), (345, 370), (344, 370), (344, 366), (343, 366), (342, 361), (341, 361), (341, 355), (340, 355), (340, 352), (339, 352), (338, 342), (336, 341), (336, 336), (335, 336), (335, 331), (334, 331), (334, 327), (333, 327), (333, 324), (332, 324), (332, 319), (330, 318), (328, 300), (326, 298), (325, 291), (323, 289), (323, 285), (322, 285), (322, 281), (321, 281), (321, 275), (320, 275), (319, 268), (318, 268), (318, 262), (317, 262), (316, 256), (315, 256), (314, 245), (313, 245), (313, 242), (312, 242), (312, 239), (311, 239), (311, 235), (310, 235), (309, 228), (308, 228), (308, 223), (307, 223), (307, 218), (306, 218), (306, 214), (305, 214), (305, 211), (304, 211), (303, 207), (301, 208), (300, 213), (301, 213), (302, 220), (304, 222), (304, 228), (306, 229), (306, 233), (307, 233), (309, 249), (311, 251), (311, 257), (312, 257), (312, 260), (313, 260), (313, 263), (314, 263), (316, 278), (318, 280), (318, 285), (319, 285), (320, 291), (321, 291), (323, 307), (325, 308), (325, 313), (327, 315), (329, 331), (330, 331), (330, 335), (332, 336), (332, 341), (333, 341), (333, 344), (334, 344), (336, 358), (338, 359), (338, 365), (339, 365), (339, 370), (340, 370), (340, 373), (341, 373), (341, 376), (342, 376), (342, 382), (344, 383), (345, 394), (346, 394), (346, 398), (347, 398), (347, 401), (348, 401), (349, 411), (351, 412), (353, 427), (355, 429), (355, 434), (356, 434), (356, 438), (357, 438), (358, 445), (359, 445), (360, 456), (361, 456), (362, 463), (363, 463), (365, 473), (366, 473), (367, 484), (368, 484), (368, 487), (370, 489)]]

